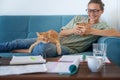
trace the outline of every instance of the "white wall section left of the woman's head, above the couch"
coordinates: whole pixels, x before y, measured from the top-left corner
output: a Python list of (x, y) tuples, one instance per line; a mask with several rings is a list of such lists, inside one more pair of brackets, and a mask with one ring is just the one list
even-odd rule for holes
[(87, 2), (88, 0), (0, 0), (0, 15), (84, 14)]

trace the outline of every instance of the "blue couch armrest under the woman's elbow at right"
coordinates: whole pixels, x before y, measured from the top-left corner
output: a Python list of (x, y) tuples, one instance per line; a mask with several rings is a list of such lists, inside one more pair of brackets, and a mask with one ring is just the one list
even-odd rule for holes
[(118, 37), (101, 37), (98, 43), (107, 44), (106, 55), (111, 62), (120, 66), (120, 38)]

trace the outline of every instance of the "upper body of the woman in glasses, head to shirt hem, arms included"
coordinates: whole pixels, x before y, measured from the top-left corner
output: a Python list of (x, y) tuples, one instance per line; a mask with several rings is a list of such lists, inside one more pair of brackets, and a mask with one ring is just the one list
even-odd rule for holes
[[(101, 0), (90, 0), (86, 11), (88, 18), (76, 16), (65, 27), (62, 27), (60, 32), (61, 44), (69, 47), (71, 53), (85, 51), (100, 36), (120, 36), (119, 32), (99, 21), (104, 12), (104, 4)], [(89, 25), (83, 27), (76, 25), (77, 23), (89, 23)], [(83, 34), (86, 36), (82, 36)]]

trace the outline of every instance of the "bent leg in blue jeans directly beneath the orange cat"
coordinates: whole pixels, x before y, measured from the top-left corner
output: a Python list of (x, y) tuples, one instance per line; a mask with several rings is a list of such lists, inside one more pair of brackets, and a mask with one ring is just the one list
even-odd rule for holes
[[(68, 55), (70, 54), (70, 49), (61, 46), (62, 53), (61, 55)], [(44, 58), (46, 57), (56, 57), (56, 56), (61, 56), (58, 55), (56, 45), (52, 43), (43, 43), (40, 42), (38, 45), (36, 45), (31, 53), (32, 55), (42, 55)]]

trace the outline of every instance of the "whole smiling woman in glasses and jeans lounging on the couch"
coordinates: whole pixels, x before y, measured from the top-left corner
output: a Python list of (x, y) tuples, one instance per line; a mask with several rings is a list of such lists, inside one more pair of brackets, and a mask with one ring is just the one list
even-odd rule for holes
[[(90, 0), (87, 8), (88, 17), (76, 16), (66, 26), (61, 28), (60, 41), (62, 54), (80, 53), (85, 51), (100, 36), (120, 36), (119, 32), (100, 22), (99, 18), (104, 12), (104, 4), (101, 0)], [(77, 23), (89, 23), (86, 27)], [(112, 34), (111, 34), (112, 33)], [(0, 44), (0, 52), (28, 52), (28, 48), (36, 39), (20, 39)], [(39, 48), (39, 49), (38, 49)], [(37, 53), (35, 52), (37, 51)], [(46, 54), (46, 57), (58, 56), (53, 44), (38, 44), (33, 49), (34, 55)]]

